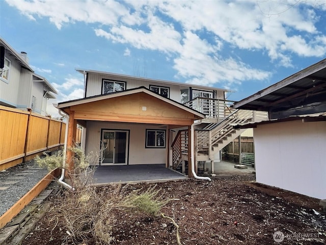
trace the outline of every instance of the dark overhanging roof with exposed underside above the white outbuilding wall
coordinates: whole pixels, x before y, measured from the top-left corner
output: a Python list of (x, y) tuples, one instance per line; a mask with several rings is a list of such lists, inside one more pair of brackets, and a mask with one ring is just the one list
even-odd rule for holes
[(236, 109), (268, 111), (270, 118), (326, 111), (326, 59), (234, 104)]

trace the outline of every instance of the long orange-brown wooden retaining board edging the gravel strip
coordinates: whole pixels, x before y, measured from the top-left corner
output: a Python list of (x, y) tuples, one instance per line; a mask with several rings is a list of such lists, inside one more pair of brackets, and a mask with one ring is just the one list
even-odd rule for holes
[(61, 169), (56, 168), (40, 180), (29, 192), (27, 192), (18, 202), (0, 217), (0, 229), (5, 227), (10, 220), (15, 217), (26, 205), (36, 198), (50, 182), (61, 174)]

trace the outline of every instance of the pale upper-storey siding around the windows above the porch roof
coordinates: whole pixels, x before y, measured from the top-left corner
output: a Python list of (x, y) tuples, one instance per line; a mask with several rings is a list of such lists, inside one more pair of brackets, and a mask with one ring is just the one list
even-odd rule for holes
[[(101, 74), (89, 74), (87, 78), (87, 94), (86, 97), (99, 95), (102, 93), (102, 80), (115, 80), (115, 81), (122, 81), (126, 82), (126, 89), (138, 88), (144, 86), (149, 89), (150, 85), (156, 85), (161, 87), (169, 87), (170, 88), (170, 99), (179, 102), (181, 101), (180, 98), (180, 90), (187, 88), (187, 86), (180, 86), (180, 85), (172, 85), (166, 84), (164, 82), (156, 82), (156, 81), (144, 81), (132, 78), (121, 78), (116, 76), (109, 76), (109, 75), (101, 75)], [(194, 88), (196, 86), (194, 85)], [(202, 90), (202, 89), (201, 89)], [(211, 89), (213, 91), (213, 88)], [(224, 99), (224, 92), (218, 91), (217, 95), (218, 99)]]

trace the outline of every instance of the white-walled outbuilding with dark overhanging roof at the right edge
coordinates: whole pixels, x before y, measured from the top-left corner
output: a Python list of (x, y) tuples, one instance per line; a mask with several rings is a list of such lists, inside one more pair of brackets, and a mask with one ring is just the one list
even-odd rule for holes
[(326, 198), (326, 59), (234, 104), (268, 112), (253, 128), (256, 181)]

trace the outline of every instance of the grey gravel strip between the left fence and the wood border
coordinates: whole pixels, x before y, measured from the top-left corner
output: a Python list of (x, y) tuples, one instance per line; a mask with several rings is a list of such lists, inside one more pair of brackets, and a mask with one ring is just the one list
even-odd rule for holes
[(47, 168), (40, 168), (33, 160), (0, 171), (0, 216), (47, 174)]

